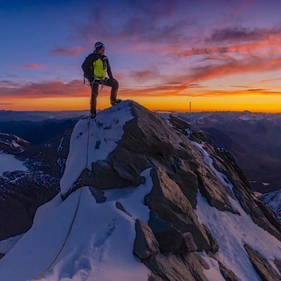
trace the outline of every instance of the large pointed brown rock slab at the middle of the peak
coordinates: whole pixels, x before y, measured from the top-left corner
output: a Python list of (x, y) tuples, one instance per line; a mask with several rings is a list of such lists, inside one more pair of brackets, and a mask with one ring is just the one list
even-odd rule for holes
[(161, 219), (171, 222), (180, 232), (191, 232), (198, 250), (210, 250), (206, 232), (179, 186), (160, 169), (153, 169), (151, 177), (153, 189), (145, 197), (149, 208)]

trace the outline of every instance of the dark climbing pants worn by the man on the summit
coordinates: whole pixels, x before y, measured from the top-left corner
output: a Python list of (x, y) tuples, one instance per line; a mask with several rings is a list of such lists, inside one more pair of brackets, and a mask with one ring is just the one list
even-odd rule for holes
[(99, 86), (100, 85), (105, 85), (111, 87), (111, 92), (110, 92), (110, 102), (113, 102), (116, 100), (117, 97), (117, 91), (119, 88), (119, 83), (116, 79), (111, 78), (111, 79), (106, 79), (103, 82), (92, 82), (90, 84), (91, 86), (91, 113), (96, 114), (96, 109), (97, 109), (97, 97), (99, 95)]

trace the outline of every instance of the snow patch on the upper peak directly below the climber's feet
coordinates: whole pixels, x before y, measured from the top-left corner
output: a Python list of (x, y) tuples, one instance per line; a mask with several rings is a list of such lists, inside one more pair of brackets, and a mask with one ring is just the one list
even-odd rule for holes
[[(91, 171), (93, 162), (107, 158), (122, 138), (124, 124), (133, 118), (129, 103), (124, 102), (99, 112), (96, 119), (91, 119), (90, 123), (86, 115), (76, 124), (71, 137), (65, 172), (60, 181), (62, 195), (72, 188), (85, 168)], [(87, 142), (89, 142), (89, 150), (87, 150)]]

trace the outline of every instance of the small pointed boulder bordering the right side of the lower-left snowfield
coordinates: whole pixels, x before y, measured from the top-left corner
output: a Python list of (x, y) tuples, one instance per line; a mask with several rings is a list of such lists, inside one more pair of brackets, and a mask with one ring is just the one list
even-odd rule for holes
[(153, 254), (159, 252), (159, 244), (153, 235), (150, 227), (143, 221), (135, 221), (136, 238), (133, 253), (139, 259), (148, 259)]

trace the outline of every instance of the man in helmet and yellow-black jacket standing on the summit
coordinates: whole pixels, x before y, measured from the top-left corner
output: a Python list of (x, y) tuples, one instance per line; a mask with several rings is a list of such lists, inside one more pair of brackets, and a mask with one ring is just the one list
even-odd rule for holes
[[(111, 87), (110, 104), (115, 105), (121, 102), (116, 99), (119, 83), (113, 78), (108, 58), (104, 55), (105, 45), (102, 42), (95, 44), (95, 50), (89, 54), (83, 64), (84, 77), (88, 79), (91, 86), (91, 118), (95, 118), (97, 111), (97, 97), (99, 95), (99, 85)], [(106, 76), (108, 74), (108, 77)]]

